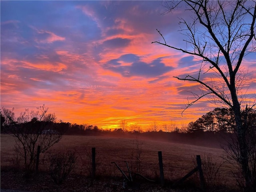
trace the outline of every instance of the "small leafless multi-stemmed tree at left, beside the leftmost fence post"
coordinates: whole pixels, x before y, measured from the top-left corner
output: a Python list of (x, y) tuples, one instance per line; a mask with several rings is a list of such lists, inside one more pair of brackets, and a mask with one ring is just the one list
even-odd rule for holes
[(40, 146), (40, 153), (45, 152), (59, 142), (64, 133), (61, 128), (54, 128), (55, 114), (47, 114), (48, 108), (44, 105), (37, 109), (36, 112), (29, 112), (26, 109), (16, 118), (14, 108), (2, 108), (2, 115), (5, 118), (4, 129), (16, 138), (15, 149), (23, 158), (26, 171), (34, 169), (37, 147)]

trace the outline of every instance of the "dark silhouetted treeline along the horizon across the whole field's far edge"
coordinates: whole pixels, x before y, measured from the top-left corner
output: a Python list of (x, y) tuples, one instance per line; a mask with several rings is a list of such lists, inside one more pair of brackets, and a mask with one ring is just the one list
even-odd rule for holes
[[(248, 129), (256, 129), (256, 110), (252, 109), (250, 112), (242, 112), (242, 120), (246, 118)], [(8, 129), (12, 128), (12, 132), (15, 129), (26, 132), (33, 129), (34, 132), (42, 130), (57, 130), (62, 134), (68, 135), (99, 135), (99, 134), (142, 134), (142, 130), (138, 126), (133, 126), (128, 130), (127, 125), (120, 124), (120, 128), (115, 130), (106, 130), (98, 128), (95, 125), (88, 124), (71, 124), (69, 122), (56, 122), (55, 114), (45, 115), (44, 118), (30, 118), (25, 119), (26, 116), (21, 115), (15, 118), (13, 110), (3, 108), (1, 111), (1, 133), (9, 133)], [(245, 121), (244, 121), (245, 122)], [(167, 128), (167, 125), (163, 125), (162, 129), (157, 127), (157, 124), (153, 124), (151, 129), (146, 132), (152, 132), (156, 135), (157, 132), (173, 132), (173, 133), (185, 133), (185, 134), (200, 134), (200, 133), (232, 133), (235, 130), (234, 114), (231, 109), (228, 108), (216, 108), (198, 118), (195, 122), (190, 122), (186, 128), (180, 129), (177, 126), (172, 129)], [(122, 128), (121, 128), (122, 127)], [(145, 132), (144, 132), (145, 133)], [(146, 134), (144, 134), (146, 135)], [(150, 134), (148, 134), (150, 135)], [(160, 134), (158, 134), (160, 135)], [(162, 135), (162, 134), (161, 134)]]

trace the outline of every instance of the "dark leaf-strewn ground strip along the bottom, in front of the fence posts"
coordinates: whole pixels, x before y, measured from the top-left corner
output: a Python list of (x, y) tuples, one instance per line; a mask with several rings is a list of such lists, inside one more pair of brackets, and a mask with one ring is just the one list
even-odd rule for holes
[[(7, 190), (6, 190), (7, 189)], [(10, 190), (12, 189), (12, 190)], [(72, 174), (62, 184), (55, 184), (48, 174), (40, 173), (25, 178), (22, 172), (1, 171), (1, 192), (197, 192), (200, 189), (172, 189), (170, 184), (161, 187), (159, 183), (140, 180), (133, 186), (123, 188), (123, 178), (90, 178)]]

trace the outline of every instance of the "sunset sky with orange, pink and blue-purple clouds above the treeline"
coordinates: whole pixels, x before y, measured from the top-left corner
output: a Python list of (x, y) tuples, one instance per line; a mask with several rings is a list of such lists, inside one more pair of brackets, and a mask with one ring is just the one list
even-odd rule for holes
[[(204, 98), (183, 114), (195, 83), (177, 80), (201, 62), (154, 41), (186, 46), (182, 7), (162, 1), (1, 1), (1, 108), (36, 110), (99, 128), (186, 126), (217, 106)], [(246, 91), (255, 97), (256, 56), (248, 54)]]

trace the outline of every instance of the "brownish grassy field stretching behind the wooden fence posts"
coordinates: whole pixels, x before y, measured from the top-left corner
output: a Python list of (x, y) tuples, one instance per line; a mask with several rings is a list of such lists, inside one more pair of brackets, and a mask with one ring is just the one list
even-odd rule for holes
[[(126, 169), (124, 161), (136, 168), (136, 141), (141, 148), (140, 173), (146, 177), (157, 178), (159, 176), (158, 151), (162, 151), (164, 164), (164, 177), (167, 180), (176, 180), (187, 174), (195, 167), (196, 155), (201, 157), (211, 154), (212, 162), (218, 166), (222, 162), (221, 155), (224, 150), (220, 148), (208, 148), (188, 144), (176, 144), (140, 138), (112, 138), (98, 136), (63, 136), (59, 143), (52, 146), (51, 153), (58, 151), (65, 152), (73, 150), (78, 156), (75, 172), (88, 174), (89, 157), (91, 148), (96, 148), (96, 174), (106, 176), (121, 176), (121, 173), (111, 162), (116, 162), (122, 169)], [(14, 137), (8, 134), (1, 134), (1, 166), (12, 165), (14, 155)], [(47, 168), (47, 153), (40, 155), (40, 169)], [(133, 161), (132, 161), (133, 159)], [(220, 168), (216, 182), (234, 185), (230, 170), (232, 166), (224, 163)], [(217, 181), (218, 179), (218, 181)]]

